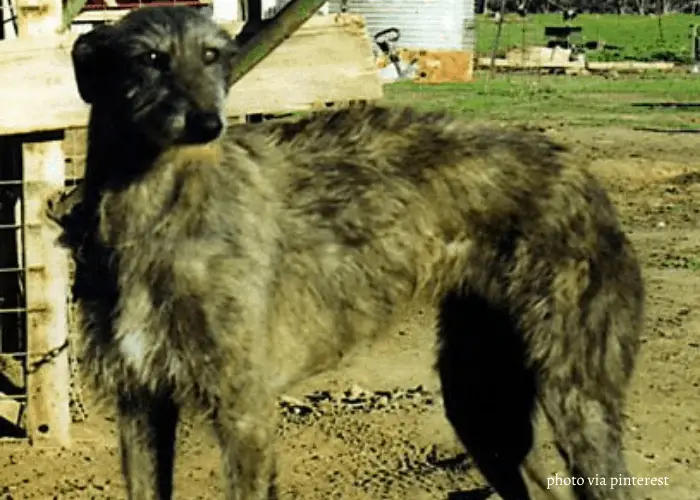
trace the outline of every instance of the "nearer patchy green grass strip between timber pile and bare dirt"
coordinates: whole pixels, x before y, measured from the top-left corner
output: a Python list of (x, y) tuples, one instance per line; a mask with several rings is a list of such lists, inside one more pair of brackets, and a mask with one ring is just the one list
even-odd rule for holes
[(697, 102), (698, 76), (647, 73), (549, 76), (477, 73), (470, 83), (386, 85), (384, 102), (446, 109), (463, 117), (542, 126), (700, 129), (700, 108), (648, 108), (638, 103)]

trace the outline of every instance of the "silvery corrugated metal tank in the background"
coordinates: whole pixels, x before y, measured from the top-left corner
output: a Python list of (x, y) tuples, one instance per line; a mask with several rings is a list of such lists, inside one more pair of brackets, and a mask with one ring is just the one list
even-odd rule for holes
[(361, 14), (370, 36), (398, 28), (399, 48), (467, 50), (476, 45), (474, 0), (330, 0), (331, 14)]

